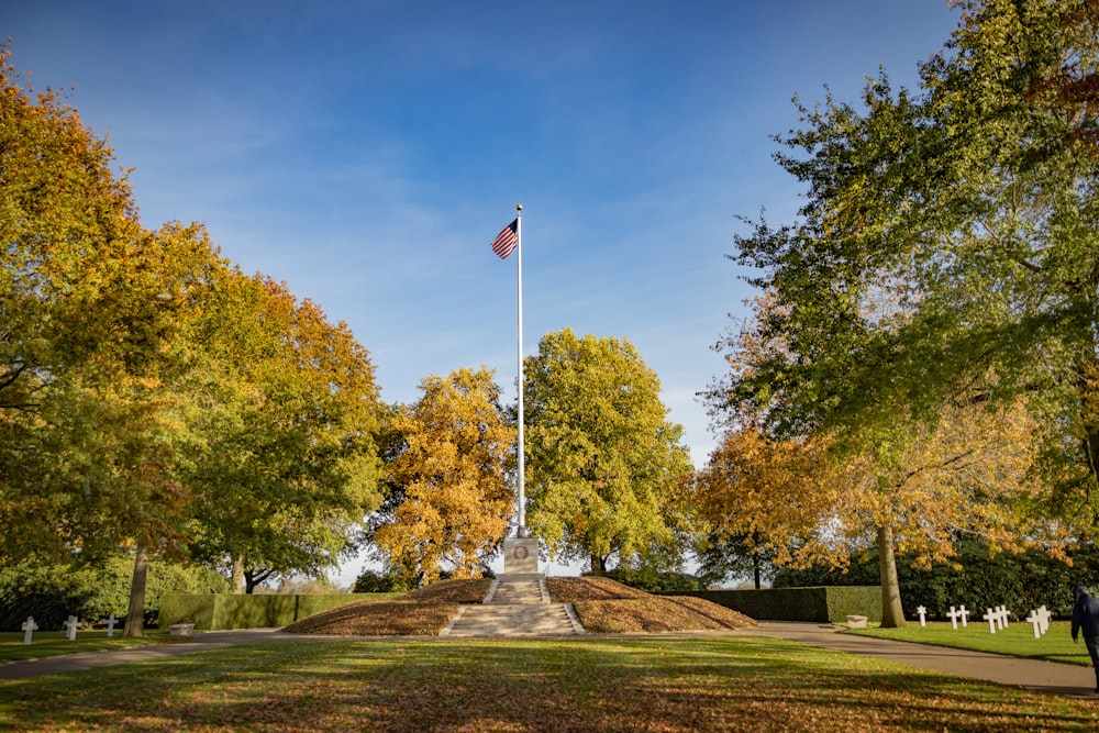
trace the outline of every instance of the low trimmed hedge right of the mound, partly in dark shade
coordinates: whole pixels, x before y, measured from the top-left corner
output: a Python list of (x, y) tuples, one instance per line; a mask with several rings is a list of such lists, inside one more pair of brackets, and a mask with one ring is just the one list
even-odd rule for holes
[(695, 596), (757, 621), (842, 623), (848, 615), (881, 620), (881, 586), (696, 590), (659, 593)]

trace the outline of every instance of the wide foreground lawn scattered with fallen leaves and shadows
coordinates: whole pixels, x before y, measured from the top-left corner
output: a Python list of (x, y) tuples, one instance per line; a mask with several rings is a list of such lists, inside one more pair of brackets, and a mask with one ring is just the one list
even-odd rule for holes
[(1094, 731), (1090, 700), (764, 637), (281, 642), (0, 682), (20, 731)]

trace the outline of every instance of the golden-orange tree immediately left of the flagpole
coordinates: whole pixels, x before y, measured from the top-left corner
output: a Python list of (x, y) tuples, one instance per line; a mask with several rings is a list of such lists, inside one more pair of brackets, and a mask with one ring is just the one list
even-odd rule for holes
[(491, 369), (458, 369), (420, 382), (387, 432), (399, 436), (387, 486), (397, 501), (376, 518), (374, 542), (388, 565), (426, 585), (449, 569), (480, 577), (514, 512), (515, 427)]

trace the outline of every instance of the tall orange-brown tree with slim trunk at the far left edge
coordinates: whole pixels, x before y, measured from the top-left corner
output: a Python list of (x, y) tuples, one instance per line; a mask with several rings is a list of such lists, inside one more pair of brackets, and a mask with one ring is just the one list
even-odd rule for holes
[[(195, 229), (141, 226), (112, 153), (0, 53), (0, 513), (9, 559), (178, 547), (190, 496), (170, 382), (220, 267)], [(133, 621), (134, 623), (131, 623)]]

